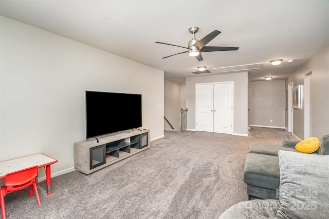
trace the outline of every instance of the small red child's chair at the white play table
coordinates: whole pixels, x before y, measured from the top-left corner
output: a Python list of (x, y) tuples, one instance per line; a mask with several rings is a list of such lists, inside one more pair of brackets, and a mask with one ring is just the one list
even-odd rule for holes
[(24, 189), (30, 186), (30, 196), (35, 191), (38, 205), (41, 205), (38, 188), (36, 188), (35, 177), (38, 175), (38, 166), (26, 168), (16, 172), (8, 173), (5, 178), (5, 185), (0, 189), (0, 207), (2, 218), (6, 219), (5, 196), (8, 192)]

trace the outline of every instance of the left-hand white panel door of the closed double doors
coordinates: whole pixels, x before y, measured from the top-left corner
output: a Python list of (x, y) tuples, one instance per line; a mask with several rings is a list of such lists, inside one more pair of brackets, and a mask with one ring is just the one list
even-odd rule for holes
[(213, 85), (196, 87), (196, 130), (213, 132)]

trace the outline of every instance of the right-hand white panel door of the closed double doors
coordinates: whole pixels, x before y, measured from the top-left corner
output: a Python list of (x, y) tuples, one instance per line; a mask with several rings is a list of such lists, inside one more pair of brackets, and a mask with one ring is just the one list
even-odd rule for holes
[(214, 132), (232, 134), (232, 83), (214, 84)]

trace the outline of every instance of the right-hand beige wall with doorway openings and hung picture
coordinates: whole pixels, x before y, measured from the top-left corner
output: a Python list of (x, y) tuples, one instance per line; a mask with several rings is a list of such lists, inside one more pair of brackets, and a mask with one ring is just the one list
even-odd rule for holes
[[(329, 47), (326, 47), (315, 55), (302, 68), (291, 74), (285, 83), (293, 82), (293, 86), (304, 85), (304, 76), (312, 72), (310, 79), (310, 118), (311, 136), (322, 137), (329, 134)], [(293, 133), (301, 140), (304, 139), (304, 108), (293, 109)], [(285, 113), (286, 127), (288, 126), (288, 114)]]

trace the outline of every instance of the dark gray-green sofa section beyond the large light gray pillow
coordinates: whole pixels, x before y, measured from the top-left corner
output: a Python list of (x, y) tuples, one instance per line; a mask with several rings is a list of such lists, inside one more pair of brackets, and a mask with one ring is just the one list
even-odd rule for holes
[[(280, 170), (278, 151), (294, 151), (297, 141), (283, 141), (282, 145), (251, 142), (244, 166), (244, 182), (251, 196), (279, 199)], [(329, 135), (320, 139), (320, 148), (313, 154), (329, 154)]]

